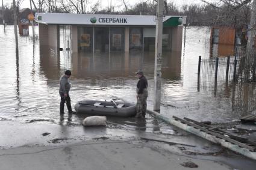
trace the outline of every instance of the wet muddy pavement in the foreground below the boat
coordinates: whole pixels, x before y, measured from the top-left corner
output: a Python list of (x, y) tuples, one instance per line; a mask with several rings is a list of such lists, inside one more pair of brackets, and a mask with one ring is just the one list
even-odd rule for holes
[[(149, 120), (154, 118), (147, 116), (146, 121), (150, 122)], [(154, 120), (146, 126), (145, 121), (135, 118), (123, 122), (126, 122), (125, 126), (122, 126), (120, 119), (108, 118), (107, 127), (83, 127), (80, 123), (67, 121), (66, 118), (58, 124), (43, 121), (27, 124), (1, 121), (0, 162), (4, 165), (1, 167), (15, 169), (16, 165), (20, 165), (22, 169), (33, 169), (36, 164), (39, 169), (70, 169), (71, 165), (71, 169), (79, 169), (81, 166), (98, 167), (89, 161), (89, 156), (94, 157), (94, 162), (100, 161), (101, 166), (108, 167), (113, 164), (110, 162), (116, 162), (116, 156), (120, 156), (125, 166), (135, 163), (136, 169), (154, 169), (152, 167), (155, 166), (163, 168), (158, 161), (160, 157), (165, 163), (172, 162), (171, 167), (176, 167), (174, 169), (183, 169), (181, 163), (191, 161), (199, 166), (198, 169), (255, 168), (254, 160), (176, 129), (160, 120)], [(158, 142), (152, 140), (154, 138)], [(72, 154), (63, 153), (67, 148), (72, 150)], [(63, 160), (63, 157), (70, 157), (70, 161)], [(83, 159), (80, 160), (79, 157)], [(130, 160), (131, 157), (133, 160)], [(156, 164), (152, 166), (145, 163), (149, 160), (155, 160)], [(50, 163), (51, 166), (42, 165), (44, 162), (47, 162), (46, 165)], [(116, 167), (113, 169), (122, 169), (119, 163), (114, 165)]]

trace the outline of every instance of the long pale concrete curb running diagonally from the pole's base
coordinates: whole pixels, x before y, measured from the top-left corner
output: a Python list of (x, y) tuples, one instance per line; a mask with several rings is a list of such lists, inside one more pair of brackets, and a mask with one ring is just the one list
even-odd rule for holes
[(187, 124), (181, 123), (180, 121), (176, 121), (173, 118), (164, 117), (163, 115), (159, 114), (158, 112), (150, 111), (150, 110), (147, 110), (147, 112), (149, 114), (151, 114), (152, 116), (154, 116), (160, 120), (163, 120), (166, 123), (169, 123), (173, 126), (176, 126), (176, 127), (179, 127), (180, 129), (185, 130), (186, 132), (193, 133), (194, 135), (200, 136), (201, 138), (207, 139), (208, 141), (211, 141), (215, 144), (220, 144), (223, 147), (228, 148), (229, 150), (233, 150), (236, 153), (240, 153), (243, 156), (246, 156), (246, 157), (256, 160), (256, 152), (255, 151), (252, 152), (246, 148), (241, 148), (241, 147), (239, 147), (239, 145), (232, 144), (231, 142), (227, 142), (227, 141), (225, 141), (225, 139), (217, 138), (214, 135), (203, 132), (203, 131), (196, 129), (192, 126), (188, 126)]

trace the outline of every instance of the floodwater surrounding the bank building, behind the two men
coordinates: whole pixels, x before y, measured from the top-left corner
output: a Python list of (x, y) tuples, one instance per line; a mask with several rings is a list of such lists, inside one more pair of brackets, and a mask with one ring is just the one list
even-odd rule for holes
[[(143, 68), (149, 81), (148, 108), (153, 108), (154, 51), (72, 55), (60, 52), (58, 56), (53, 49), (39, 46), (37, 27), (36, 37), (34, 42), (31, 37), (19, 37), (19, 56), (16, 57), (13, 26), (7, 26), (5, 32), (0, 28), (1, 120), (28, 123), (45, 119), (57, 123), (58, 79), (66, 69), (72, 71), (70, 97), (74, 106), (86, 99), (135, 103), (137, 77), (134, 73)], [(60, 39), (63, 47), (63, 38)], [(161, 114), (215, 122), (229, 121), (243, 114), (242, 110), (234, 111), (231, 97), (214, 96), (211, 90), (197, 90), (198, 56), (209, 58), (209, 42), (208, 28), (188, 28), (185, 49), (163, 54)], [(119, 120), (111, 121), (114, 124)], [(148, 117), (147, 121), (157, 127), (152, 118)], [(135, 127), (134, 121), (123, 120), (122, 124)]]

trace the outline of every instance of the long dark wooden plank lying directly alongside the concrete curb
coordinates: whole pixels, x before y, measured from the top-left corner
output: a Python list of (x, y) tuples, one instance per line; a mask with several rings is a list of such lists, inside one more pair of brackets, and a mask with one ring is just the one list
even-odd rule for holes
[(204, 132), (206, 132), (206, 133), (209, 133), (209, 134), (211, 134), (211, 135), (213, 135), (213, 136), (216, 136), (217, 138), (225, 139), (226, 141), (231, 142), (232, 144), (239, 145), (240, 147), (246, 148), (246, 149), (248, 149), (248, 150), (250, 150), (250, 151), (255, 151), (255, 148), (254, 148), (254, 147), (250, 147), (250, 146), (245, 145), (245, 144), (243, 144), (243, 143), (241, 143), (241, 142), (238, 142), (238, 141), (236, 141), (236, 140), (234, 140), (234, 139), (231, 139), (231, 138), (228, 138), (228, 137), (226, 137), (226, 136), (220, 135), (219, 133), (211, 132), (210, 130), (205, 129), (204, 127), (201, 127), (201, 126), (199, 126), (199, 125), (197, 125), (197, 124), (195, 124), (195, 123), (191, 123), (191, 122), (189, 122), (189, 121), (183, 120), (183, 119), (178, 118), (178, 117), (175, 117), (175, 116), (173, 116), (173, 118), (174, 118), (175, 120), (181, 121), (181, 123), (186, 123), (186, 124), (188, 124), (188, 125), (190, 125), (190, 126), (193, 126), (193, 127), (197, 128), (197, 129), (200, 129), (200, 130), (202, 130), (202, 131), (204, 131)]

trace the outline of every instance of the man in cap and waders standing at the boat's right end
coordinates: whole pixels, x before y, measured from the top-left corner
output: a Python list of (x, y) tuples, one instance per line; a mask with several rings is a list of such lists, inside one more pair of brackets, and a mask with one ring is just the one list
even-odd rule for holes
[(145, 118), (146, 115), (146, 99), (148, 98), (148, 80), (143, 75), (142, 70), (136, 72), (139, 81), (137, 83), (137, 103), (136, 118)]

